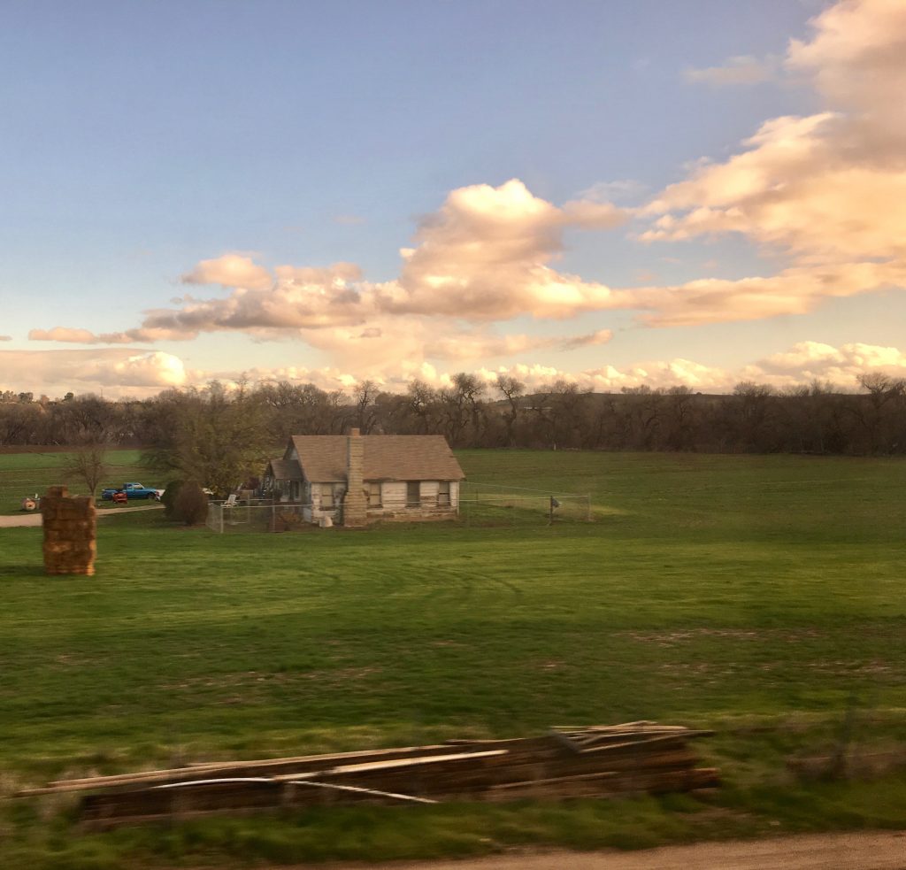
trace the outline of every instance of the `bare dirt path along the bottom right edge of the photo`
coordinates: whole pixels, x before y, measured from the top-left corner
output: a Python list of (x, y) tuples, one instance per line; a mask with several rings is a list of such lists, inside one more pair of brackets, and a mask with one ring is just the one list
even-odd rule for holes
[[(906, 870), (906, 831), (782, 836), (629, 853), (549, 852), (466, 861), (320, 866), (322, 870)], [(313, 865), (307, 865), (307, 870), (313, 870)]]

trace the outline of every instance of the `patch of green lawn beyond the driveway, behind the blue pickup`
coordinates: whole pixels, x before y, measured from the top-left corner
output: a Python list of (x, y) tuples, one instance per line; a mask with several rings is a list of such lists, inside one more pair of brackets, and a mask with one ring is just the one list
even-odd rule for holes
[[(85, 484), (78, 480), (63, 478), (61, 466), (67, 453), (43, 448), (27, 449), (24, 453), (0, 453), (0, 516), (18, 514), (24, 496), (39, 496), (48, 487), (63, 484), (72, 495), (85, 495)], [(153, 486), (152, 477), (141, 467), (140, 450), (110, 450), (107, 453), (110, 473), (104, 478), (101, 488), (120, 486), (139, 475), (139, 482)], [(144, 476), (147, 479), (143, 479)], [(163, 482), (160, 486), (163, 486)], [(98, 490), (100, 495), (100, 489)]]

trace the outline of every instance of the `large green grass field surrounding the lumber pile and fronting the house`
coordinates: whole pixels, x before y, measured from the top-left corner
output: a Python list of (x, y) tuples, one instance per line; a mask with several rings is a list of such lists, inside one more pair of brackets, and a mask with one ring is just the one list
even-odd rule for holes
[[(902, 774), (803, 783), (786, 771), (790, 757), (833, 752), (847, 710), (853, 749), (906, 740), (906, 464), (459, 456), (474, 480), (591, 493), (595, 520), (216, 536), (129, 514), (99, 527), (90, 579), (43, 575), (40, 529), (0, 529), (3, 791), (196, 759), (652, 719), (718, 729), (698, 744), (724, 771), (718, 797), (337, 810), (103, 836), (79, 835), (65, 801), (17, 801), (0, 812), (0, 865), (906, 827)], [(11, 468), (31, 473), (0, 456), (4, 491)]]

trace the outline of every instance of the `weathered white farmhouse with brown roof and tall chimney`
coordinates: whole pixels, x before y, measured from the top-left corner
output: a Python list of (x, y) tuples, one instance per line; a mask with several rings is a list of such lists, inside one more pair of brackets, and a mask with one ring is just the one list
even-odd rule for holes
[(294, 435), (265, 470), (265, 492), (302, 505), (311, 522), (456, 517), (465, 478), (442, 435)]

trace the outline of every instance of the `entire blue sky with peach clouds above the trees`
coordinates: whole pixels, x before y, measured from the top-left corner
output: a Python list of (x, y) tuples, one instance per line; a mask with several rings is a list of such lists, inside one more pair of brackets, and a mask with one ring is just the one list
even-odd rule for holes
[(906, 376), (906, 0), (5, 0), (0, 391)]

